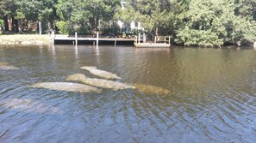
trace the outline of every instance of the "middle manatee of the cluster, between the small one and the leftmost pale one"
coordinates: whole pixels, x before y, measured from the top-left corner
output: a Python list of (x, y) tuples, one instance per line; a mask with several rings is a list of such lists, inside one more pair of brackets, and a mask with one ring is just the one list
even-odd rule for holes
[(134, 86), (128, 86), (126, 84), (116, 82), (113, 80), (103, 80), (103, 79), (91, 79), (86, 77), (84, 74), (72, 74), (67, 77), (68, 81), (78, 81), (90, 86), (98, 86), (102, 88), (108, 88), (112, 90), (123, 90), (123, 89), (133, 89)]

